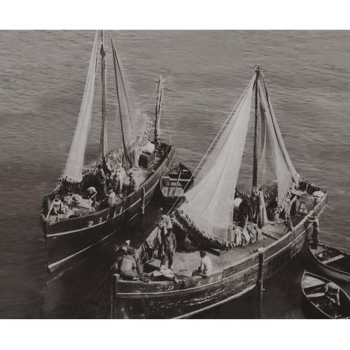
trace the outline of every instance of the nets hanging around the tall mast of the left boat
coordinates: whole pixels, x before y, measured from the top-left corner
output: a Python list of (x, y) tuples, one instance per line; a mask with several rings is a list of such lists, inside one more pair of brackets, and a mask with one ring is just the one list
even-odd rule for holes
[[(118, 120), (119, 129), (121, 130), (123, 146), (116, 149), (107, 148), (107, 118), (106, 110), (108, 109), (107, 101), (107, 51), (104, 31), (101, 33), (101, 41), (98, 41), (99, 31), (96, 32), (90, 65), (87, 71), (87, 79), (85, 82), (85, 90), (80, 106), (76, 131), (73, 136), (73, 141), (69, 151), (69, 156), (66, 162), (66, 167), (60, 181), (69, 183), (80, 183), (83, 180), (83, 174), (89, 173), (94, 167), (84, 165), (85, 149), (87, 147), (87, 138), (90, 133), (90, 125), (92, 123), (92, 113), (94, 111), (94, 94), (99, 94), (96, 86), (96, 78), (98, 73), (99, 56), (101, 56), (101, 73), (102, 73), (102, 130), (99, 140), (99, 150), (97, 160), (94, 163), (95, 167), (99, 163), (103, 163), (109, 170), (113, 171), (123, 162), (126, 170), (134, 167), (137, 164), (137, 153), (139, 149), (148, 141), (148, 136), (152, 127), (152, 120), (148, 118), (146, 113), (141, 113), (134, 101), (134, 95), (125, 78), (123, 64), (120, 57), (117, 55), (116, 47), (111, 38), (111, 60), (113, 61), (114, 72), (113, 76), (116, 80), (116, 85), (111, 89), (113, 94), (111, 108), (116, 108), (116, 119), (109, 118), (110, 122)], [(114, 113), (109, 112), (109, 115)], [(115, 130), (113, 130), (115, 132)], [(110, 134), (111, 135), (111, 134)], [(112, 134), (113, 139), (113, 134)]]

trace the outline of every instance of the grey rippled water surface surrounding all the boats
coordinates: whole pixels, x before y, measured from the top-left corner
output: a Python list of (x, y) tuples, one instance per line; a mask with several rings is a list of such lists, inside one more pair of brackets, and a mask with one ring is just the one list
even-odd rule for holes
[[(141, 106), (158, 76), (177, 159), (195, 169), (261, 64), (283, 139), (297, 172), (329, 190), (321, 238), (350, 250), (349, 31), (115, 31)], [(94, 33), (0, 31), (0, 316), (109, 317), (113, 241), (65, 274), (49, 274), (38, 214), (64, 168), (83, 94)], [(99, 120), (92, 125), (96, 139)], [(164, 137), (167, 123), (162, 122)], [(118, 136), (118, 135), (117, 135)], [(111, 137), (113, 139), (113, 135)], [(97, 141), (87, 148), (92, 160)], [(160, 210), (148, 210), (150, 226)], [(265, 283), (262, 316), (304, 318), (302, 257)], [(348, 291), (349, 288), (347, 288)], [(253, 290), (202, 314), (258, 317)]]

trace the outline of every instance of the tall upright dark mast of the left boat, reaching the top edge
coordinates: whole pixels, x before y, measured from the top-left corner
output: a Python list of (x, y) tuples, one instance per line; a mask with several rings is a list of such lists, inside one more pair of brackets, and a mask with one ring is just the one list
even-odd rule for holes
[(99, 158), (104, 157), (107, 153), (107, 130), (106, 130), (106, 89), (107, 89), (107, 80), (106, 80), (106, 51), (104, 50), (104, 31), (101, 31), (101, 75), (102, 75), (102, 127), (101, 127), (101, 138), (99, 141), (99, 154), (97, 155), (97, 162)]

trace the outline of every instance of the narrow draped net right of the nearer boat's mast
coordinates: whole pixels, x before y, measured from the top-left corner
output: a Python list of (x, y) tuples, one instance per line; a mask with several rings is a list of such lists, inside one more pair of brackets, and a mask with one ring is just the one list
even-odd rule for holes
[[(297, 183), (298, 174), (290, 161), (286, 146), (284, 145), (279, 125), (277, 124), (276, 116), (272, 109), (271, 101), (265, 83), (262, 85), (262, 81), (258, 80), (258, 92), (260, 99), (260, 116), (261, 116), (261, 130), (260, 138), (266, 138), (266, 131), (269, 137), (269, 146), (272, 151), (272, 159), (274, 161), (274, 170), (278, 183), (278, 204), (281, 205), (286, 200), (286, 194), (290, 190), (290, 186), (294, 181)], [(260, 149), (262, 154), (263, 148)], [(261, 154), (261, 155), (262, 155)], [(260, 155), (260, 166), (263, 157)]]

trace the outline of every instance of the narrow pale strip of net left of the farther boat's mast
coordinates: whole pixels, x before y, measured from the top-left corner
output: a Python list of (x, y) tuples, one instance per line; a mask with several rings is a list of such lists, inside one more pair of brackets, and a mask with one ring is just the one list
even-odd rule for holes
[(71, 150), (69, 151), (66, 167), (61, 176), (61, 180), (70, 183), (78, 183), (82, 181), (83, 162), (87, 137), (90, 132), (90, 123), (92, 117), (92, 104), (94, 101), (94, 82), (97, 73), (97, 58), (99, 55), (99, 47), (97, 44), (97, 33), (94, 38), (94, 46), (90, 59), (89, 71), (85, 83), (83, 101), (80, 106), (78, 123), (74, 133)]

